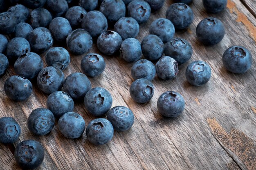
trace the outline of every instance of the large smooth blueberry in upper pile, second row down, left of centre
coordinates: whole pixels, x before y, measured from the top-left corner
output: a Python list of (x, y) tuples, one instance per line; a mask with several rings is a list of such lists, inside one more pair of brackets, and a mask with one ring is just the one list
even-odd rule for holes
[(98, 37), (107, 31), (108, 20), (100, 11), (90, 11), (83, 17), (82, 28), (88, 31), (92, 37)]

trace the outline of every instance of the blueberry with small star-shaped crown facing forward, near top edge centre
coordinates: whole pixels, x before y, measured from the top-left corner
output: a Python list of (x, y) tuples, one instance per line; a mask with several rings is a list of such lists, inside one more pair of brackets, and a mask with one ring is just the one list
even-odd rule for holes
[(144, 0), (133, 0), (127, 6), (128, 17), (133, 17), (138, 24), (147, 22), (150, 17), (151, 8)]

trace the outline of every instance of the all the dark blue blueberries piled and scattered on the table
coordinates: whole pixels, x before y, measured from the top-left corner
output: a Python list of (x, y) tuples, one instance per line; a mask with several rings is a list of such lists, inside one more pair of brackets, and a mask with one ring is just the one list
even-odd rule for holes
[[(32, 93), (30, 80), (47, 98), (47, 109), (31, 112), (27, 127), (34, 135), (46, 135), (58, 120), (58, 129), (71, 139), (81, 137), (95, 145), (109, 142), (116, 131), (126, 131), (134, 122), (134, 114), (124, 106), (112, 107), (112, 96), (102, 87), (92, 88), (87, 76), (99, 76), (106, 63), (99, 54), (90, 53), (93, 41), (106, 55), (120, 52), (121, 58), (134, 62), (130, 96), (138, 103), (148, 102), (154, 95), (151, 83), (155, 74), (163, 80), (175, 78), (178, 65), (191, 59), (191, 44), (174, 38), (175, 30), (186, 30), (193, 22), (192, 0), (174, 0), (166, 18), (158, 18), (149, 28), (150, 35), (140, 43), (135, 39), (139, 24), (147, 22), (150, 13), (164, 5), (164, 0), (0, 0), (0, 75), (13, 65), (17, 75), (4, 83), (5, 94), (22, 101)], [(227, 0), (202, 0), (207, 12), (225, 9)], [(113, 30), (108, 30), (108, 26)], [(224, 25), (217, 18), (202, 20), (196, 35), (204, 45), (218, 44), (225, 35)], [(10, 41), (8, 40), (10, 39)], [(63, 47), (52, 47), (66, 44)], [(45, 62), (39, 56), (45, 52)], [(81, 70), (64, 77), (62, 70), (70, 63), (70, 53), (83, 54)], [(165, 54), (165, 56), (163, 56)], [(141, 59), (142, 55), (144, 59)], [(163, 57), (162, 57), (163, 56)], [(252, 55), (244, 47), (232, 46), (223, 56), (224, 67), (237, 74), (245, 73), (252, 65)], [(155, 65), (153, 64), (155, 62)], [(186, 69), (186, 79), (194, 86), (204, 85), (211, 78), (211, 68), (204, 61), (193, 61)], [(61, 91), (63, 89), (63, 91)], [(97, 118), (86, 127), (85, 121), (74, 113), (74, 101), (84, 101), (85, 109)], [(111, 108), (112, 107), (112, 108)], [(181, 94), (173, 91), (159, 96), (157, 108), (166, 117), (176, 117), (185, 107)], [(86, 130), (85, 130), (86, 127)], [(0, 143), (18, 140), (21, 130), (10, 117), (0, 118)], [(43, 146), (34, 140), (20, 142), (15, 159), (22, 168), (38, 167), (44, 158)]]

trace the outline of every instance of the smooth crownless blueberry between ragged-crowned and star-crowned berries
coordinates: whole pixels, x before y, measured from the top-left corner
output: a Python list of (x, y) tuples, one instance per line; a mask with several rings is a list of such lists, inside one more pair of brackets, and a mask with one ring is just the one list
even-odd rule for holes
[(83, 73), (72, 73), (64, 81), (63, 90), (74, 100), (83, 100), (85, 94), (92, 88), (92, 84)]

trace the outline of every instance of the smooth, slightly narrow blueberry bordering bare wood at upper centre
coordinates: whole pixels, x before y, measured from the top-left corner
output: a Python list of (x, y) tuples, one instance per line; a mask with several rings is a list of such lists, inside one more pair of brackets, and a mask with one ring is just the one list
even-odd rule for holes
[(134, 62), (141, 58), (141, 45), (135, 38), (125, 39), (120, 48), (121, 57), (127, 62)]

